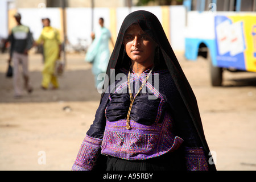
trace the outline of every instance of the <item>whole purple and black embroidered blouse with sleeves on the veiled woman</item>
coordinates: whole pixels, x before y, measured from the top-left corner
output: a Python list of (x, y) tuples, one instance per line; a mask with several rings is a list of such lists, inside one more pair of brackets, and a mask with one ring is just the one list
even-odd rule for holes
[[(133, 85), (133, 96), (148, 72), (149, 70), (144, 71), (140, 77), (131, 73), (130, 84)], [(127, 76), (128, 71), (121, 69), (120, 73)], [(165, 84), (160, 84), (163, 81)], [(113, 86), (110, 85), (111, 87)], [(114, 89), (109, 90), (109, 93), (105, 93), (102, 98), (96, 112), (96, 119), (82, 142), (72, 169), (91, 170), (100, 152), (103, 155), (126, 160), (144, 160), (175, 151), (182, 143), (189, 146), (191, 144), (189, 141), (199, 141), (193, 138), (194, 135), (186, 132), (189, 128), (191, 133), (192, 126), (186, 125), (185, 129), (183, 127), (181, 127), (183, 129), (177, 129), (180, 128), (180, 124), (176, 121), (176, 115), (183, 114), (180, 118), (184, 121), (189, 118), (186, 117), (185, 109), (181, 109), (184, 104), (179, 103), (180, 101), (170, 73), (167, 70), (153, 71), (151, 78), (148, 79), (131, 107), (131, 130), (128, 130), (126, 116), (130, 106), (130, 96), (127, 77), (126, 80), (124, 78), (122, 81), (116, 81)], [(193, 139), (187, 140), (187, 138)], [(200, 142), (196, 145), (199, 146)], [(208, 169), (203, 148), (187, 147), (185, 152), (188, 154), (185, 156), (187, 169)]]

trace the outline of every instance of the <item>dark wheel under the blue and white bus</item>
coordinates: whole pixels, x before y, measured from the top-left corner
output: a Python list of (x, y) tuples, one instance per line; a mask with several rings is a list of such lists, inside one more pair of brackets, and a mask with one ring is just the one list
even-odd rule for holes
[(210, 82), (212, 86), (221, 86), (223, 69), (219, 67), (214, 67), (214, 65), (212, 64), (212, 59), (210, 59), (209, 52), (208, 52), (207, 59), (210, 65)]

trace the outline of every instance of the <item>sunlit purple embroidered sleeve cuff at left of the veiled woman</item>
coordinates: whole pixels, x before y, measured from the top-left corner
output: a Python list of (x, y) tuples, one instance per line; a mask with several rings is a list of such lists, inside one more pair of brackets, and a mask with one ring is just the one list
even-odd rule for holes
[(92, 170), (100, 152), (101, 141), (101, 139), (92, 138), (86, 135), (82, 141), (75, 163), (72, 166), (72, 171)]

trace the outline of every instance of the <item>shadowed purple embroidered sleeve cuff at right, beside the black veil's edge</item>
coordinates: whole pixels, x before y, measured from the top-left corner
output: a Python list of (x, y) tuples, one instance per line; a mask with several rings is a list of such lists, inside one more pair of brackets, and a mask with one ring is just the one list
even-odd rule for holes
[(207, 158), (203, 147), (185, 147), (185, 160), (188, 171), (208, 171)]

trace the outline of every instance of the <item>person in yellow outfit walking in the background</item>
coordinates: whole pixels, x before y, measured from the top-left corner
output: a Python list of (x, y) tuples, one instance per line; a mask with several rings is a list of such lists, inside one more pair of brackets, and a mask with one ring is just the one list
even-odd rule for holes
[(50, 26), (49, 18), (43, 19), (44, 28), (37, 44), (43, 43), (44, 49), (44, 68), (42, 89), (47, 89), (49, 83), (53, 85), (53, 89), (59, 88), (59, 82), (55, 75), (56, 60), (60, 57), (60, 33), (56, 28)]

